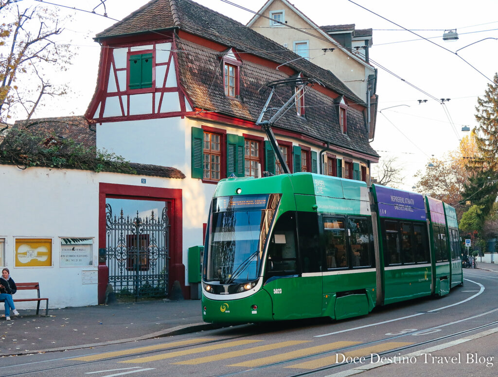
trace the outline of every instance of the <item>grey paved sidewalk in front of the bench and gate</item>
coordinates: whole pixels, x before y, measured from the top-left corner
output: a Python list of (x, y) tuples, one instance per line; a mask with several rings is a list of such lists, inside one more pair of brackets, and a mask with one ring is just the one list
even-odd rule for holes
[[(0, 309), (3, 313), (3, 305)], [(203, 322), (201, 300), (49, 309), (48, 317), (36, 315), (36, 310), (19, 309), (19, 314), (11, 321), (0, 318), (0, 356), (122, 343), (216, 326)]]

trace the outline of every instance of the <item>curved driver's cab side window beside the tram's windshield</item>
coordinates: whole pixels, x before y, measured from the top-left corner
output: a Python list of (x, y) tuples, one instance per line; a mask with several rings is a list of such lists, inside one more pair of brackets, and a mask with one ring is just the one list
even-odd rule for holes
[(295, 213), (286, 212), (277, 220), (268, 245), (268, 272), (295, 274), (296, 264)]

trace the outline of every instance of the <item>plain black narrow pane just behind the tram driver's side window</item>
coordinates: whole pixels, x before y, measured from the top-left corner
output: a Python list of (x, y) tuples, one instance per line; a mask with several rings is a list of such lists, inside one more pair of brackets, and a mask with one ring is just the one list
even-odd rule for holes
[(301, 272), (322, 271), (322, 251), (316, 212), (297, 212)]

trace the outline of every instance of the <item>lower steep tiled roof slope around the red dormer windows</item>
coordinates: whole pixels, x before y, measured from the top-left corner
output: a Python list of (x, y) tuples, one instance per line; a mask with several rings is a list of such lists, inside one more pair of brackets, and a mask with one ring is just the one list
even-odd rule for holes
[[(224, 93), (223, 77), (218, 73), (219, 60), (216, 51), (179, 39), (176, 43), (181, 51), (178, 52), (180, 81), (196, 107), (255, 121), (270, 92), (264, 84), (288, 78), (282, 72), (245, 61), (240, 67), (240, 100), (231, 99)], [(279, 88), (275, 97), (290, 98), (293, 91), (293, 87)], [(348, 135), (344, 135), (339, 128), (337, 104), (331, 97), (311, 89), (305, 95), (305, 106), (305, 117), (297, 116), (291, 109), (275, 126), (329, 141), (332, 145), (377, 156), (368, 142), (361, 111), (349, 108)]]

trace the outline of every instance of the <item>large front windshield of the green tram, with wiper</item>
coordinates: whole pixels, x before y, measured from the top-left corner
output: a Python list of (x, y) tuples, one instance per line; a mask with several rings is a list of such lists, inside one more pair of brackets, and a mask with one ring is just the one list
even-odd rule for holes
[(257, 279), (280, 194), (213, 199), (205, 280), (221, 284)]

